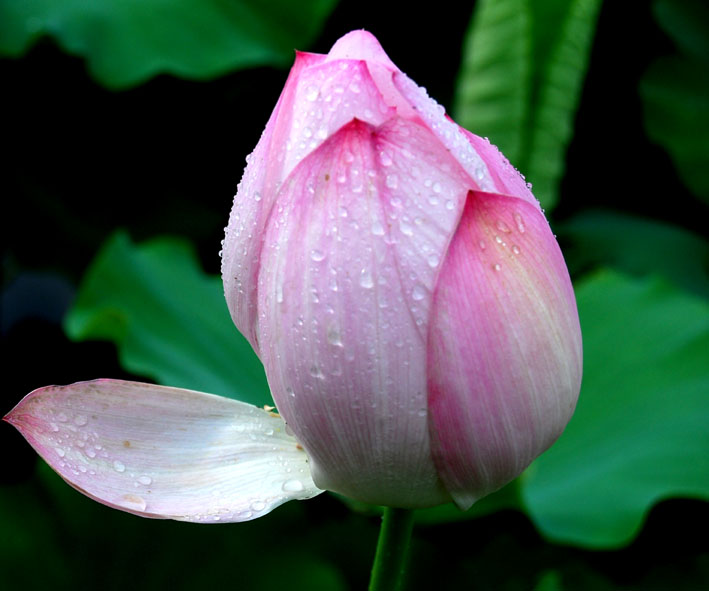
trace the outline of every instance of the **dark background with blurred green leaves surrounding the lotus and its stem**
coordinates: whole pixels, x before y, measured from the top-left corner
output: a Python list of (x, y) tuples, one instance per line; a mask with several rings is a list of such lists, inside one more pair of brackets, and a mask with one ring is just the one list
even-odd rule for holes
[[(223, 226), (293, 48), (362, 27), (533, 184), (584, 331), (562, 438), (471, 511), (420, 511), (406, 588), (708, 588), (702, 0), (0, 0), (5, 411), (96, 377), (269, 402), (216, 277)], [(376, 507), (141, 520), (67, 487), (9, 425), (0, 438), (8, 588), (366, 587)]]

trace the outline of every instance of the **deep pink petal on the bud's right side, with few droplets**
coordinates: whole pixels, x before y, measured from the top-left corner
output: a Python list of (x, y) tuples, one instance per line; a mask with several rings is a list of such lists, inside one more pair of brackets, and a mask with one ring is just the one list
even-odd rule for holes
[(538, 209), (473, 191), (432, 306), (428, 405), (439, 475), (461, 507), (560, 435), (581, 380), (568, 272)]

